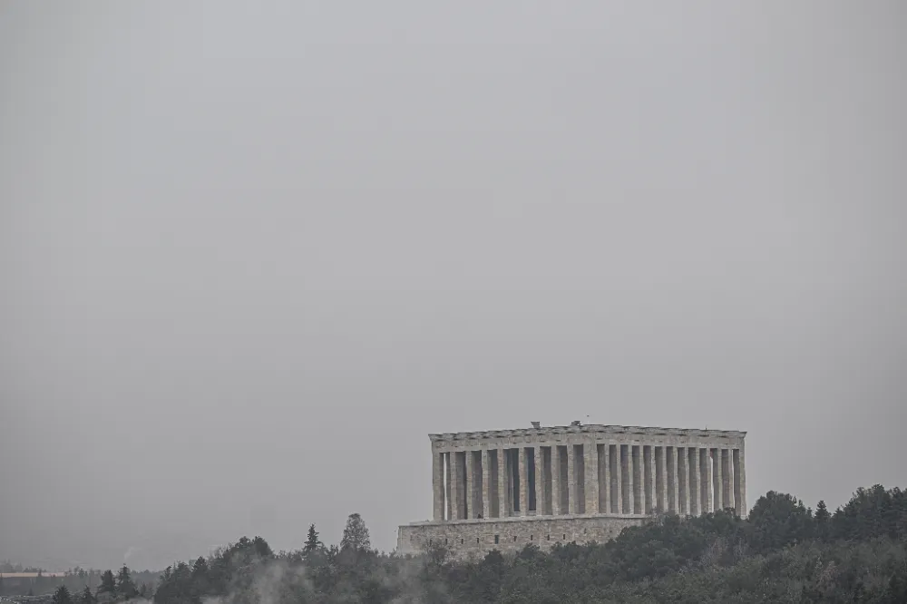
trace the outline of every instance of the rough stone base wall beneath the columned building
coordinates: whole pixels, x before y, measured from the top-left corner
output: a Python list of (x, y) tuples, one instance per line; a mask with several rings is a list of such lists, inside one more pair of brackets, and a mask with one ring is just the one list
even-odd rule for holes
[(570, 515), (418, 522), (397, 532), (397, 552), (415, 554), (444, 544), (457, 558), (483, 557), (491, 550), (513, 552), (529, 544), (548, 550), (555, 543), (605, 543), (629, 526), (651, 520), (637, 515)]

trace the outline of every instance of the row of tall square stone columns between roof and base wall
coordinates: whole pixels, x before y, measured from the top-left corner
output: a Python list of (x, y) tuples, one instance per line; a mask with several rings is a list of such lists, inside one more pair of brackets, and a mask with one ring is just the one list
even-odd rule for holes
[(436, 522), (657, 511), (697, 516), (727, 508), (746, 514), (742, 438), (683, 445), (437, 443), (433, 486)]

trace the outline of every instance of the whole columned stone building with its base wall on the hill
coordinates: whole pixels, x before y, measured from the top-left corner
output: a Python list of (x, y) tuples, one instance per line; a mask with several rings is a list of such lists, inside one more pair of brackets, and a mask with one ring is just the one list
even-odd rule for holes
[(581, 425), (429, 434), (434, 518), (397, 551), (608, 541), (657, 512), (746, 514), (745, 432)]

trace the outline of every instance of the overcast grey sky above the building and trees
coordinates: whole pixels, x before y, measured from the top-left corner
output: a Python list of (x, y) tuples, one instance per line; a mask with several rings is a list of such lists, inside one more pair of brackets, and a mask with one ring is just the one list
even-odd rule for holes
[(430, 432), (905, 486), (907, 10), (0, 4), (0, 559), (390, 550)]

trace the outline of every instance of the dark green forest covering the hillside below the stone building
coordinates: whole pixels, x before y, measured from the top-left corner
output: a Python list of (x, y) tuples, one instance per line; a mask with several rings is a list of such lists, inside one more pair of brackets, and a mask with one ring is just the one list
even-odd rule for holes
[(659, 516), (604, 544), (532, 545), (511, 556), (452, 560), (443, 548), (401, 557), (371, 549), (352, 514), (338, 546), (315, 526), (300, 550), (257, 537), (179, 562), (139, 593), (129, 570), (99, 589), (60, 588), (54, 604), (136, 599), (155, 604), (599, 602), (907, 602), (907, 492), (860, 489), (831, 513), (768, 492), (746, 519), (729, 511)]

